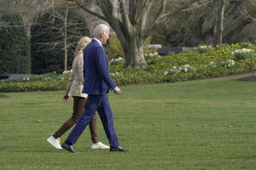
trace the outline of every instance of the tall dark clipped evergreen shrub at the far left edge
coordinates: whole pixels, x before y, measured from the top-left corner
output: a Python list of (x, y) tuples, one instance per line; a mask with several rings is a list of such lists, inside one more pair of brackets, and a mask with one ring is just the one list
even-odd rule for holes
[(7, 27), (0, 29), (0, 74), (31, 72), (31, 56), (26, 31), (19, 14), (3, 14)]

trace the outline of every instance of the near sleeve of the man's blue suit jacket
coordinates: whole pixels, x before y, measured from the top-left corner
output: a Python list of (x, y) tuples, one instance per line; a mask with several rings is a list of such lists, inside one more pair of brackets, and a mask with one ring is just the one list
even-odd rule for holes
[(96, 48), (96, 67), (103, 81), (108, 85), (108, 88), (111, 90), (116, 88), (113, 79), (109, 75), (107, 54), (102, 47)]

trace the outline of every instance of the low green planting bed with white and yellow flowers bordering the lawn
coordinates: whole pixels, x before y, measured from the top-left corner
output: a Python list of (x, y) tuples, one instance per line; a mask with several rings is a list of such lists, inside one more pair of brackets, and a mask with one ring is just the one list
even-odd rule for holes
[[(242, 44), (222, 45), (205, 50), (204, 53), (198, 50), (175, 54), (172, 56), (153, 57), (146, 61), (148, 65), (144, 68), (124, 69), (122, 64), (109, 65), (109, 71), (117, 85), (155, 83), (155, 82), (177, 82), (193, 80), (206, 77), (219, 77), (250, 69), (250, 59), (235, 60), (234, 52), (241, 49)], [(256, 52), (256, 45), (251, 51)], [(253, 53), (255, 55), (255, 53)], [(255, 64), (256, 57), (253, 56)], [(20, 79), (16, 82), (8, 80), (0, 81), (0, 91), (19, 92), (32, 90), (60, 90), (66, 89), (67, 79), (70, 73), (56, 75), (50, 73), (51, 81), (44, 78), (28, 77), (29, 80)], [(42, 77), (42, 76), (41, 76)]]

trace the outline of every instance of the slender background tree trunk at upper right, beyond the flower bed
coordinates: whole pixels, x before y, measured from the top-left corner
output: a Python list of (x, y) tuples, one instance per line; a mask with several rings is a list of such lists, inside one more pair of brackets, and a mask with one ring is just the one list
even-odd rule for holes
[(223, 42), (225, 0), (214, 0), (216, 20), (213, 30), (213, 45)]

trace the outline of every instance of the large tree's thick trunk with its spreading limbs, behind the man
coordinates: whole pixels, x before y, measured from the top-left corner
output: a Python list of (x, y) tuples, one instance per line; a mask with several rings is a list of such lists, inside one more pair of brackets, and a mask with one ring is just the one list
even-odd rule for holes
[(125, 52), (125, 68), (145, 66), (143, 46), (150, 33), (163, 18), (166, 0), (102, 0), (96, 2), (96, 6), (101, 11), (91, 10), (89, 6), (83, 5), (78, 0), (75, 1), (89, 14), (107, 21), (115, 31)]

